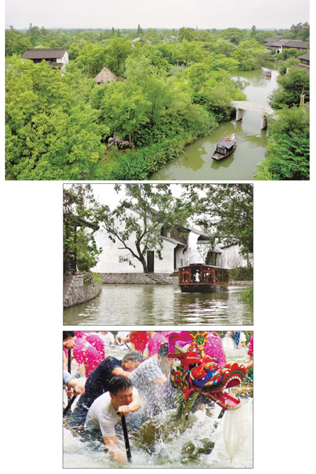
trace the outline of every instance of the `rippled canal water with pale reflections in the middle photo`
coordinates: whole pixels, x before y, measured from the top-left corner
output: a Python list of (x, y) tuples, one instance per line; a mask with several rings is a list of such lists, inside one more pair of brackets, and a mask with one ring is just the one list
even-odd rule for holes
[(186, 325), (253, 324), (253, 308), (243, 303), (246, 287), (209, 294), (181, 293), (178, 285), (104, 284), (91, 301), (64, 311), (64, 324)]

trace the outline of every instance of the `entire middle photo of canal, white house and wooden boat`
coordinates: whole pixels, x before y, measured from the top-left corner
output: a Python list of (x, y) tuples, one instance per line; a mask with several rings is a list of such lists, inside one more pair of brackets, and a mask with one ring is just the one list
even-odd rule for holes
[(253, 324), (252, 184), (64, 185), (64, 324)]

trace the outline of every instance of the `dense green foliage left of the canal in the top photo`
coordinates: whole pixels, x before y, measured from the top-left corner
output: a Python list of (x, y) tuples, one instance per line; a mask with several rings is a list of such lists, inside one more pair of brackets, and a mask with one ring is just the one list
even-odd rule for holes
[[(6, 179), (146, 179), (229, 119), (230, 101), (245, 98), (231, 74), (261, 67), (271, 55), (262, 46), (269, 35), (256, 27), (10, 27)], [(26, 48), (66, 48), (70, 65), (60, 74), (45, 62), (20, 60)], [(120, 81), (97, 86), (93, 78), (105, 64)], [(128, 141), (128, 150), (109, 148), (111, 136)]]

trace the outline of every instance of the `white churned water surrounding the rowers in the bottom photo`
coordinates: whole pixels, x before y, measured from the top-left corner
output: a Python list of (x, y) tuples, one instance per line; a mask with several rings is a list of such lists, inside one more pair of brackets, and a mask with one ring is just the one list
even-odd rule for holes
[[(107, 355), (114, 357), (123, 357), (124, 350), (119, 353), (117, 346), (107, 347)], [(230, 350), (225, 353), (227, 362), (245, 363), (249, 360), (246, 348)], [(230, 435), (237, 438), (239, 442), (237, 452), (232, 453), (231, 447), (228, 445), (227, 433), (228, 423), (232, 422), (230, 416), (235, 414), (226, 412), (214, 428), (214, 421), (220, 412), (220, 407), (215, 406), (211, 416), (207, 416), (204, 410), (197, 410), (195, 414), (190, 414), (189, 424), (184, 433), (171, 433), (167, 440), (158, 439), (154, 444), (154, 449), (149, 453), (143, 449), (139, 442), (136, 442), (133, 435), (130, 434), (132, 463), (127, 468), (252, 468), (253, 467), (253, 398), (251, 395), (242, 396), (242, 406), (231, 412), (238, 416), (239, 429), (235, 433), (230, 430)], [(166, 414), (162, 414), (162, 417)], [(170, 415), (170, 412), (169, 412)], [(228, 416), (227, 416), (228, 415)], [(226, 417), (226, 419), (225, 419)], [(236, 419), (235, 419), (236, 423)], [(242, 435), (242, 436), (241, 436)], [(124, 440), (117, 430), (117, 438), (119, 446), (122, 450)], [(203, 439), (211, 440), (215, 443), (213, 451), (210, 454), (205, 452), (198, 453), (192, 458), (185, 456), (181, 449), (188, 443), (198, 447)], [(119, 468), (118, 463), (110, 460), (103, 445), (88, 444), (82, 442), (78, 437), (74, 437), (70, 430), (64, 428), (63, 432), (63, 467), (64, 468)], [(125, 466), (124, 466), (125, 467)]]

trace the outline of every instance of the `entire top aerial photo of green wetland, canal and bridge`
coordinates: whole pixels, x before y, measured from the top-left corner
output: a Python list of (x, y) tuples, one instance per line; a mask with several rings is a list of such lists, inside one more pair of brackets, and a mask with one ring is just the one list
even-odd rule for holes
[(7, 180), (309, 179), (308, 2), (93, 3), (8, 18)]

